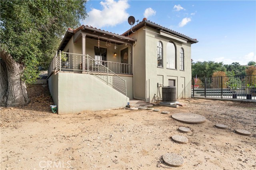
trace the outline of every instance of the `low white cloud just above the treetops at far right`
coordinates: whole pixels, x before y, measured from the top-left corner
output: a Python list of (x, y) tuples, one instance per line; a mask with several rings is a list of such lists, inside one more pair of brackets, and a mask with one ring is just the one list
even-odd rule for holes
[(213, 61), (223, 62), (224, 64), (232, 64), (233, 62), (238, 62), (240, 65), (247, 65), (249, 61), (256, 61), (256, 55), (254, 54), (254, 52), (250, 52), (244, 55), (244, 57), (237, 57), (236, 59), (218, 57), (218, 58), (214, 58)]

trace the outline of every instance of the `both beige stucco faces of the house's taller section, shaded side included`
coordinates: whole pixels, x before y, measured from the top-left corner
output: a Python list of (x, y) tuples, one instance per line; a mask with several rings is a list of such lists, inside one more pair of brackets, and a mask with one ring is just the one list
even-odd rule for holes
[[(145, 29), (145, 30), (143, 30)], [(147, 31), (148, 30), (148, 31)], [(136, 34), (137, 33), (137, 34)], [(132, 34), (134, 38), (137, 39), (137, 45), (134, 47), (134, 73), (135, 76), (135, 84), (140, 84), (140, 86), (144, 86), (146, 89), (146, 94), (142, 94), (142, 87), (139, 88), (138, 92), (135, 90), (135, 96), (138, 95), (141, 98), (144, 95), (146, 101), (151, 101), (154, 94), (157, 94), (157, 83), (163, 83), (164, 86), (168, 86), (168, 79), (176, 80), (176, 91), (177, 98), (181, 97), (190, 97), (191, 96), (191, 88), (189, 87), (191, 81), (191, 44), (189, 42), (184, 42), (184, 40), (180, 40), (179, 38), (172, 37), (170, 35), (163, 36), (158, 31), (144, 27), (140, 30), (136, 31), (135, 34)], [(144, 39), (143, 39), (144, 35)], [(178, 39), (178, 40), (177, 40)], [(163, 68), (157, 67), (157, 42), (161, 41), (163, 43)], [(176, 46), (176, 67), (177, 69), (167, 69), (166, 63), (166, 46), (168, 42), (174, 42)], [(145, 51), (143, 50), (143, 47)], [(180, 48), (184, 49), (184, 71), (180, 70)], [(143, 57), (144, 53), (144, 57)], [(138, 59), (137, 55), (141, 55), (140, 59)], [(143, 63), (144, 62), (144, 63)], [(145, 67), (144, 67), (145, 65)], [(144, 69), (146, 72), (142, 71)], [(138, 82), (138, 77), (142, 78)], [(144, 81), (144, 82), (143, 82)], [(145, 85), (146, 83), (146, 85)], [(135, 85), (135, 89), (138, 86)], [(188, 88), (189, 87), (189, 88)], [(187, 88), (187, 89), (186, 89)]]

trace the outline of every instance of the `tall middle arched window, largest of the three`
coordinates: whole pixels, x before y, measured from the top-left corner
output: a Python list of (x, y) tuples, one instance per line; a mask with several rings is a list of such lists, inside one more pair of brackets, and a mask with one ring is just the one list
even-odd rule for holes
[(168, 69), (177, 69), (176, 67), (176, 47), (173, 42), (168, 42), (166, 47), (166, 59)]

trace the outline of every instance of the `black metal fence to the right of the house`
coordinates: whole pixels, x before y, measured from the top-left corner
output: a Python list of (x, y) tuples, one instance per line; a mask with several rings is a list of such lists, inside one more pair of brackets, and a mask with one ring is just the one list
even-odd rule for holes
[(192, 79), (192, 97), (256, 100), (256, 75)]

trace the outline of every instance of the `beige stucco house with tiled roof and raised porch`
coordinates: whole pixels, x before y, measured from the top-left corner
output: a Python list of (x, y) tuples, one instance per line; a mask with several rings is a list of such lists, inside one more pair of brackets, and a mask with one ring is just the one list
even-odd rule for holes
[(90, 26), (68, 29), (48, 68), (58, 113), (149, 102), (157, 84), (176, 87), (177, 99), (191, 97), (191, 44), (197, 42), (145, 18), (122, 35)]

